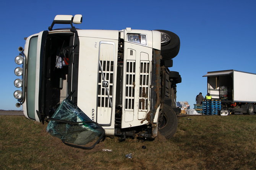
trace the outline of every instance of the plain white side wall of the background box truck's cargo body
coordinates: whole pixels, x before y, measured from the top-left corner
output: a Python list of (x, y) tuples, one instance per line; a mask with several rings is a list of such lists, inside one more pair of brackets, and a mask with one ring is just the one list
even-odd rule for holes
[(233, 81), (234, 101), (256, 101), (256, 74), (234, 71)]

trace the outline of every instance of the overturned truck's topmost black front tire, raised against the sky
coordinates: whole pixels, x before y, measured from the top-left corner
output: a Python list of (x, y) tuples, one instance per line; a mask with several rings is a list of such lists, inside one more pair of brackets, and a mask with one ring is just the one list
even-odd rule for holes
[[(172, 59), (180, 51), (180, 38), (173, 32), (157, 30), (161, 32), (161, 55), (163, 60)], [(167, 37), (167, 38), (165, 38)]]

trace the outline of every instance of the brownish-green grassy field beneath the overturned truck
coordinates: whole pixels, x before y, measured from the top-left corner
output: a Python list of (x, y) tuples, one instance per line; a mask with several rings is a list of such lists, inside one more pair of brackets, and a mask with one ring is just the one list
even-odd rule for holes
[[(256, 115), (190, 116), (179, 117), (178, 122), (170, 140), (106, 138), (94, 149), (83, 150), (49, 135), (46, 125), (1, 115), (0, 169), (256, 169)], [(126, 158), (128, 153), (133, 158)]]

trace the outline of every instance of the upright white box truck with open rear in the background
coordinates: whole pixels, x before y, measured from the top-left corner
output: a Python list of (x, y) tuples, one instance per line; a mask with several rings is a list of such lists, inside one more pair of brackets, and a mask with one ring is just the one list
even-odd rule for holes
[(254, 114), (256, 74), (237, 70), (207, 72), (207, 92), (221, 100), (221, 113)]

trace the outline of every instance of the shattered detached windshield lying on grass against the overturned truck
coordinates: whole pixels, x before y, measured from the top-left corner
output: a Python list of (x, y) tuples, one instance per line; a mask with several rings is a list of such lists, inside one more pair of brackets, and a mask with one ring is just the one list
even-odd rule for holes
[(66, 98), (49, 118), (47, 132), (68, 146), (92, 149), (105, 139), (105, 130)]

